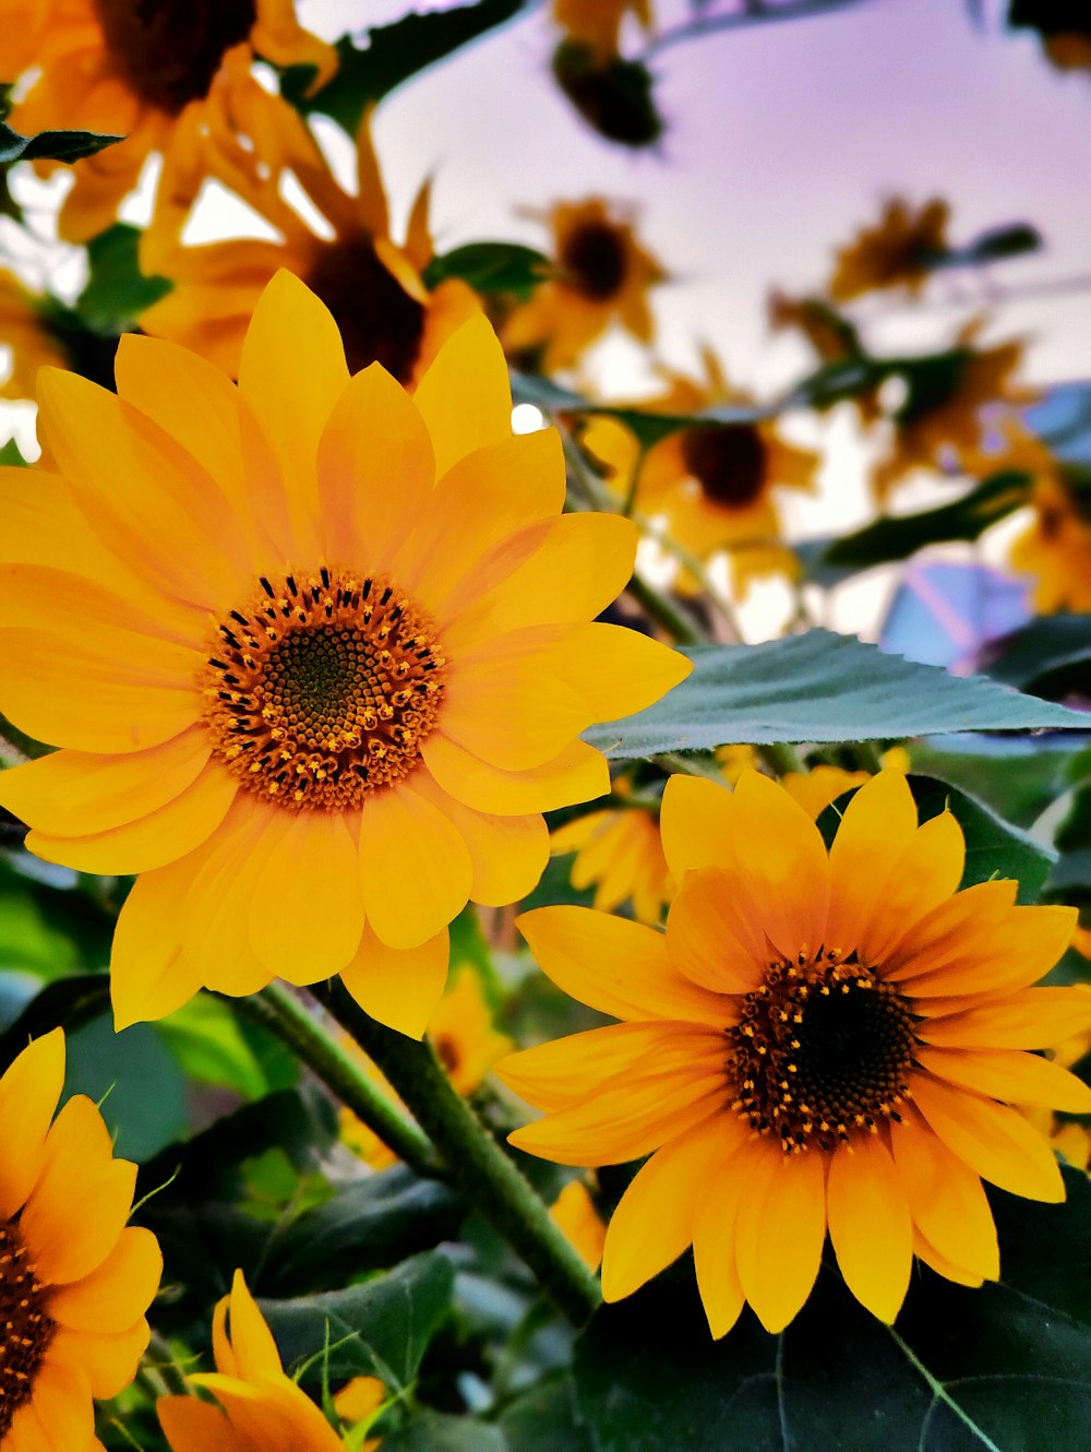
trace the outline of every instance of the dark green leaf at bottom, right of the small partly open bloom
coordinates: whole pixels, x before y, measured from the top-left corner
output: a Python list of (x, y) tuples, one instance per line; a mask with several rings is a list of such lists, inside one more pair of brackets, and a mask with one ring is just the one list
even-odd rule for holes
[[(306, 1300), (261, 1301), (284, 1366), (305, 1385), (380, 1376), (402, 1390), (416, 1376), (428, 1343), (447, 1318), (454, 1268), (438, 1250), (386, 1275)], [(326, 1352), (328, 1347), (328, 1352)]]

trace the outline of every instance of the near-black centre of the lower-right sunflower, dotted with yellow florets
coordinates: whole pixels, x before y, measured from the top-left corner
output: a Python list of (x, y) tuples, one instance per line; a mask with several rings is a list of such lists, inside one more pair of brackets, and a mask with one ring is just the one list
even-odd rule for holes
[(727, 1038), (733, 1108), (759, 1134), (776, 1134), (786, 1154), (873, 1134), (910, 1095), (910, 1005), (837, 954), (772, 963)]

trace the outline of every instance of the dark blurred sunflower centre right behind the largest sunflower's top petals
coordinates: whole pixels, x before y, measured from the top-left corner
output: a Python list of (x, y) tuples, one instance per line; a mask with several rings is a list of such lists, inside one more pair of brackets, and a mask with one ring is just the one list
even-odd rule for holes
[(408, 383), (421, 353), (425, 309), (387, 272), (370, 237), (324, 248), (306, 280), (341, 328), (348, 372), (382, 363)]

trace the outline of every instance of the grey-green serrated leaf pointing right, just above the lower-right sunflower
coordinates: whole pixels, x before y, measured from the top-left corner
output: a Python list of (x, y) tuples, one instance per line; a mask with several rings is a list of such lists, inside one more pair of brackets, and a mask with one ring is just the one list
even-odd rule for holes
[(612, 758), (731, 743), (901, 741), (963, 730), (1087, 730), (1091, 716), (982, 677), (884, 655), (828, 630), (765, 645), (691, 646), (693, 672), (662, 701), (585, 741)]

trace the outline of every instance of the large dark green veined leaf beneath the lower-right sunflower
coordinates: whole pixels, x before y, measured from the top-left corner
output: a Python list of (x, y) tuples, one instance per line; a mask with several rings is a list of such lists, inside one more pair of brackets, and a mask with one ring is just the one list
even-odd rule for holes
[(1074, 1170), (1065, 1180), (1065, 1205), (992, 1192), (1001, 1284), (975, 1291), (920, 1268), (892, 1330), (828, 1268), (779, 1336), (744, 1311), (712, 1342), (688, 1266), (605, 1307), (576, 1352), (579, 1408), (595, 1452), (1082, 1446), (1091, 1419), (1091, 1185)]

